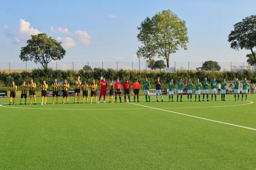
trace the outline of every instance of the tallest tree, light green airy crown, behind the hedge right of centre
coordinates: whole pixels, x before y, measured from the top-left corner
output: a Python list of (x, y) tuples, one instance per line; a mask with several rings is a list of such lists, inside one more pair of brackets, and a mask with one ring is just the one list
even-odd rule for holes
[(140, 31), (137, 38), (144, 45), (141, 51), (145, 59), (163, 57), (169, 67), (170, 54), (179, 47), (187, 49), (189, 38), (186, 23), (169, 9), (158, 12), (151, 19), (147, 17), (137, 29)]

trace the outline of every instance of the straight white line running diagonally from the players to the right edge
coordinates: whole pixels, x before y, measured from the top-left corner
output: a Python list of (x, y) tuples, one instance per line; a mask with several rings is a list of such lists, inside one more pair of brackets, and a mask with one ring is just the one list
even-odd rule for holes
[[(138, 105), (138, 104), (135, 104), (135, 103), (129, 103), (129, 104), (131, 104), (131, 105)], [(152, 108), (152, 107), (145, 106), (145, 105), (138, 105), (138, 106), (143, 106), (143, 107), (146, 107), (146, 108)], [(160, 110), (160, 111), (166, 111), (166, 110), (159, 109), (159, 108), (152, 108), (152, 109), (156, 109), (156, 110)], [(244, 128), (244, 129), (256, 130), (256, 129), (251, 128), (251, 127), (245, 127), (245, 126), (240, 126), (240, 125), (234, 125), (234, 124), (231, 124), (231, 123), (220, 122), (220, 121), (217, 121), (217, 120), (206, 119), (206, 118), (202, 118), (202, 117), (198, 117), (198, 116), (192, 116), (192, 115), (189, 115), (189, 114), (178, 113), (178, 112), (174, 112), (174, 111), (166, 111), (166, 112), (175, 113), (175, 114), (180, 114), (180, 115), (183, 115), (183, 116), (194, 117), (194, 118), (197, 118), (197, 119), (203, 119), (203, 120), (207, 120), (207, 121), (211, 121), (211, 122), (216, 122), (216, 123), (221, 123), (221, 124), (225, 124), (225, 125), (241, 127), (241, 128)]]

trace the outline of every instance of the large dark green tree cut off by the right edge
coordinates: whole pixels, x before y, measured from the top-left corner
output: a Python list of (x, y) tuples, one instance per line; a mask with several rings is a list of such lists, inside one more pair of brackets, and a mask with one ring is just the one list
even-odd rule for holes
[(256, 64), (253, 48), (256, 47), (256, 15), (244, 18), (234, 25), (234, 30), (228, 36), (230, 47), (239, 50), (247, 49), (252, 52), (254, 64)]

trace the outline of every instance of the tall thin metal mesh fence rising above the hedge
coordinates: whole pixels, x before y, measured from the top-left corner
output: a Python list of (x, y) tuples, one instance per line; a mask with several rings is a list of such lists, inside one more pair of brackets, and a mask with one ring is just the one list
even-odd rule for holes
[[(196, 70), (201, 69), (204, 62), (170, 62), (169, 67), (175, 70)], [(241, 70), (246, 69), (247, 62), (218, 62), (221, 66), (221, 71), (234, 71), (238, 67)], [(112, 68), (112, 69), (125, 69), (125, 70), (151, 70), (148, 68), (147, 62), (50, 62), (48, 68), (60, 70), (80, 70), (84, 65), (93, 68)], [(34, 62), (0, 62), (0, 71), (14, 72), (14, 71), (29, 71), (33, 68), (43, 68), (41, 64)]]

